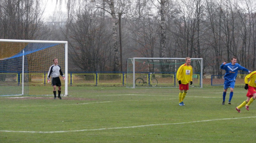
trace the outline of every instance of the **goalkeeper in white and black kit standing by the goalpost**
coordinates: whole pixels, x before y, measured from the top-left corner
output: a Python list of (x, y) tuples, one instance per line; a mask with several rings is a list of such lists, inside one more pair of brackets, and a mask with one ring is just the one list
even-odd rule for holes
[(53, 59), (53, 65), (50, 67), (47, 77), (47, 82), (50, 83), (50, 77), (52, 77), (52, 86), (53, 86), (53, 94), (54, 99), (56, 99), (56, 86), (58, 86), (58, 98), (61, 99), (61, 82), (59, 79), (59, 75), (62, 76), (63, 80), (65, 80), (65, 75), (63, 75), (60, 66), (58, 65), (58, 59)]

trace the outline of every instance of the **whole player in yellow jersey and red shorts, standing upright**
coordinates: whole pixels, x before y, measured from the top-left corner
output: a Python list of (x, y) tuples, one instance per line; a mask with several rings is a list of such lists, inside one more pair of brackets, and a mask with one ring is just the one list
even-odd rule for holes
[(179, 105), (184, 106), (183, 103), (184, 98), (186, 97), (186, 93), (188, 90), (188, 83), (190, 82), (190, 85), (193, 84), (192, 82), (192, 75), (193, 75), (193, 68), (190, 65), (191, 59), (189, 57), (186, 57), (185, 63), (182, 64), (178, 71), (177, 71), (177, 79), (179, 81)]

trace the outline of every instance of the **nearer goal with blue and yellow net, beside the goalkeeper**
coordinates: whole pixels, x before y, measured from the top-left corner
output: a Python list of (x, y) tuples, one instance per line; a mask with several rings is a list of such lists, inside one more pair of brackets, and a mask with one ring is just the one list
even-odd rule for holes
[(47, 84), (47, 76), (53, 58), (58, 58), (66, 76), (66, 81), (62, 81), (62, 93), (64, 89), (67, 96), (67, 41), (0, 39), (0, 96), (45, 94), (38, 89), (51, 86)]

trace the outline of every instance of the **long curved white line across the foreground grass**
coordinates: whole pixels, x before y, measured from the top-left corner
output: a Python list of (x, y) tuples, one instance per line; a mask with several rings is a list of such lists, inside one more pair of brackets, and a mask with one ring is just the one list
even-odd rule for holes
[(114, 130), (114, 129), (128, 129), (128, 128), (140, 128), (140, 127), (150, 127), (150, 126), (163, 126), (163, 125), (180, 125), (180, 124), (190, 124), (190, 123), (200, 123), (200, 122), (210, 122), (210, 121), (222, 121), (222, 120), (233, 120), (241, 118), (254, 118), (256, 116), (248, 117), (233, 117), (233, 118), (217, 118), (213, 120), (202, 120), (202, 121), (193, 121), (193, 122), (181, 122), (181, 123), (166, 123), (166, 124), (150, 124), (150, 125), (141, 125), (141, 126), (130, 126), (130, 127), (115, 127), (115, 128), (101, 128), (101, 129), (84, 129), (84, 130), (74, 130), (74, 131), (6, 131), (0, 130), (0, 132), (19, 132), (19, 133), (64, 133), (64, 132), (82, 132), (82, 131), (98, 131), (98, 130)]

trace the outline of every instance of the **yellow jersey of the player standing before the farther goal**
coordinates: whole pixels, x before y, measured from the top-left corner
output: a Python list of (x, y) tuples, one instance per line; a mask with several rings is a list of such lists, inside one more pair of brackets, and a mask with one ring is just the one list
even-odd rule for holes
[(177, 79), (182, 84), (188, 84), (192, 81), (193, 68), (191, 65), (182, 64), (177, 71)]

